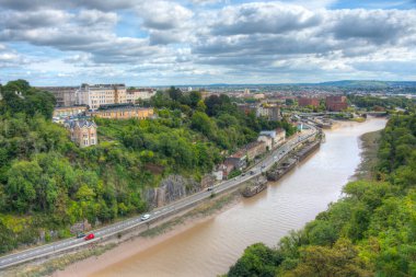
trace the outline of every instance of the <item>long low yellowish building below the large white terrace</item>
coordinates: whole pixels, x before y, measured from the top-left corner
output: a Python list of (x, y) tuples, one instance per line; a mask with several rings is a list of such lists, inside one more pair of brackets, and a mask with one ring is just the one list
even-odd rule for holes
[(103, 108), (89, 112), (88, 115), (108, 119), (146, 119), (153, 117), (152, 107), (139, 107), (132, 105), (107, 105)]

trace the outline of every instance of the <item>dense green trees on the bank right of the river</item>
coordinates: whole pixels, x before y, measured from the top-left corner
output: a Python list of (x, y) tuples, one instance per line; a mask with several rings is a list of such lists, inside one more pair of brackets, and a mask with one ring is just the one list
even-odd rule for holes
[(416, 276), (416, 116), (382, 134), (378, 177), (357, 181), (277, 247), (247, 247), (228, 276)]

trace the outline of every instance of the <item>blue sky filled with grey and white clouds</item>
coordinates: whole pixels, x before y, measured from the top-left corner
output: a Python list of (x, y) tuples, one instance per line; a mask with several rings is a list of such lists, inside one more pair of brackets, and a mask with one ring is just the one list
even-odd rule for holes
[(416, 0), (0, 0), (0, 82), (416, 81)]

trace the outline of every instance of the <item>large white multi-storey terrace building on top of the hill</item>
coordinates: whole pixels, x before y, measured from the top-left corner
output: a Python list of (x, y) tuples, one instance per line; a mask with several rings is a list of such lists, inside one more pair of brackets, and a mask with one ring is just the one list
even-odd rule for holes
[(77, 90), (77, 103), (97, 109), (102, 105), (127, 103), (125, 84), (81, 84)]

